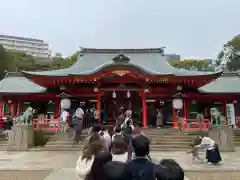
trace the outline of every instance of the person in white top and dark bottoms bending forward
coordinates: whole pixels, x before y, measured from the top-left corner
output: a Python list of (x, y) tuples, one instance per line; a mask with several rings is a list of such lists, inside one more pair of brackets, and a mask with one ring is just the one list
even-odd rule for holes
[(222, 161), (219, 149), (214, 140), (209, 137), (201, 137), (201, 144), (197, 145), (197, 148), (206, 148), (206, 159), (208, 164), (219, 164)]

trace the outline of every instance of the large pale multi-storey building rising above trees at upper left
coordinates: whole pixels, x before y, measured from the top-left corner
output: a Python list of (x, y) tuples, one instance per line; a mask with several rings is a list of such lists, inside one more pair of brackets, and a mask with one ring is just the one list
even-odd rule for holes
[(51, 51), (49, 45), (40, 39), (0, 35), (0, 44), (6, 50), (25, 52), (37, 58), (49, 58)]

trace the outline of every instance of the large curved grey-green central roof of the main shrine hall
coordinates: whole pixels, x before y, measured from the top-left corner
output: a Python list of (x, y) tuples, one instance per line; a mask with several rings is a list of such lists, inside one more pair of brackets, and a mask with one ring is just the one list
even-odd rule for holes
[[(129, 61), (114, 61), (115, 57), (123, 55)], [(134, 67), (149, 75), (173, 75), (173, 76), (201, 76), (221, 73), (188, 71), (171, 66), (166, 57), (162, 55), (162, 49), (83, 49), (78, 61), (70, 68), (43, 71), (24, 72), (30, 75), (42, 76), (68, 76), (90, 75), (107, 67)]]

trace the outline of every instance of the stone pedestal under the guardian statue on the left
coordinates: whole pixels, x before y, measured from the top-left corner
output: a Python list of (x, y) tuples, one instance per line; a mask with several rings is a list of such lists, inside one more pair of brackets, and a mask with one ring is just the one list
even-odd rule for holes
[(16, 124), (8, 136), (8, 151), (27, 151), (33, 147), (34, 128), (32, 124)]

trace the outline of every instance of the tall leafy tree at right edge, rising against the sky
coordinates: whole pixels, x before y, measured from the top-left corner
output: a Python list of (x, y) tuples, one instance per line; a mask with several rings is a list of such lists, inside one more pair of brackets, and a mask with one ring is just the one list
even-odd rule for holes
[(217, 65), (225, 65), (230, 71), (240, 69), (240, 36), (235, 36), (232, 40), (223, 45), (216, 61)]

